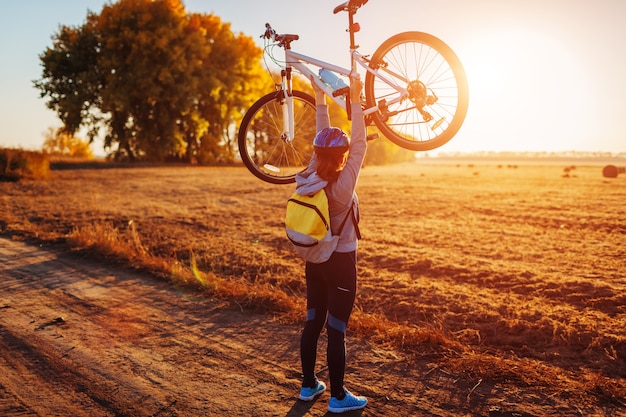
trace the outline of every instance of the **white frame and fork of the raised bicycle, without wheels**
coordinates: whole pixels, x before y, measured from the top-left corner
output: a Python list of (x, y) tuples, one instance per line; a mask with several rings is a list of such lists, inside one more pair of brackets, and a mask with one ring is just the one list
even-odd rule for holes
[[(393, 104), (404, 100), (408, 97), (408, 92), (406, 88), (400, 87), (397, 83), (393, 82), (391, 79), (387, 78), (384, 74), (381, 73), (378, 69), (371, 68), (368, 65), (368, 61), (365, 57), (356, 49), (350, 50), (352, 68), (347, 69), (337, 65), (330, 64), (328, 62), (321, 61), (319, 59), (315, 59), (298, 52), (294, 52), (291, 49), (285, 49), (285, 63), (286, 63), (286, 74), (283, 73), (282, 81), (281, 81), (281, 91), (285, 94), (285, 103), (286, 106), (283, 106), (283, 132), (282, 137), (285, 141), (291, 142), (295, 136), (294, 133), (294, 114), (293, 114), (293, 96), (291, 89), (291, 68), (295, 68), (298, 72), (304, 75), (307, 79), (312, 79), (315, 85), (320, 88), (328, 97), (330, 97), (337, 105), (339, 105), (346, 112), (349, 112), (350, 109), (346, 108), (346, 100), (343, 95), (333, 96), (333, 89), (327, 85), (318, 74), (313, 72), (308, 66), (312, 65), (320, 69), (327, 69), (329, 71), (334, 72), (335, 74), (343, 75), (345, 77), (360, 77), (357, 72), (357, 64), (363, 67), (367, 72), (373, 74), (375, 78), (383, 81), (385, 84), (389, 85), (393, 88), (398, 96), (392, 100), (387, 100), (388, 104)], [(394, 76), (398, 79), (402, 79), (402, 77), (394, 74)], [(285, 82), (285, 79), (287, 80)], [(363, 113), (365, 115), (374, 113), (378, 111), (378, 105), (374, 105), (373, 107), (369, 107), (364, 109)]]

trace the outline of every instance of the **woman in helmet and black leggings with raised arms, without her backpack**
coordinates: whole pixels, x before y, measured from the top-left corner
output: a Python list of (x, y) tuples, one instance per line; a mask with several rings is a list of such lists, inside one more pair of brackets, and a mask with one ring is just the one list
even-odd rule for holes
[(317, 135), (313, 141), (314, 154), (307, 170), (296, 176), (299, 194), (312, 194), (325, 188), (329, 201), (331, 228), (336, 232), (348, 210), (354, 210), (341, 231), (337, 249), (324, 263), (307, 262), (306, 324), (300, 340), (302, 389), (299, 398), (311, 401), (326, 390), (315, 375), (317, 342), (326, 324), (328, 333), (327, 361), (331, 398), (328, 410), (343, 413), (364, 408), (367, 399), (355, 396), (344, 387), (346, 367), (345, 333), (356, 297), (356, 250), (359, 218), (355, 193), (367, 149), (365, 122), (361, 108), (359, 79), (350, 83), (352, 139), (341, 129), (330, 127), (326, 96), (315, 83)]

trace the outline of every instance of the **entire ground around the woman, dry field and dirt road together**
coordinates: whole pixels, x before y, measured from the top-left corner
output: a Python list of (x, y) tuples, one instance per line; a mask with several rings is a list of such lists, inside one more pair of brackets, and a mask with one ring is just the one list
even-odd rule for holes
[[(567, 169), (364, 170), (347, 416), (626, 416), (625, 183)], [(329, 415), (296, 400), (304, 312), (273, 308), (304, 297), (291, 192), (241, 167), (0, 182), (0, 417)]]

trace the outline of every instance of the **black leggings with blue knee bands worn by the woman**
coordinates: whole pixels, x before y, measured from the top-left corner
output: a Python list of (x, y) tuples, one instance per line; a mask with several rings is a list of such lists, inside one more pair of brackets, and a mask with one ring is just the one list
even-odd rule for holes
[(326, 358), (333, 397), (343, 396), (345, 333), (356, 297), (356, 252), (332, 254), (322, 264), (306, 263), (306, 324), (300, 339), (303, 387), (315, 386), (317, 341), (326, 324)]

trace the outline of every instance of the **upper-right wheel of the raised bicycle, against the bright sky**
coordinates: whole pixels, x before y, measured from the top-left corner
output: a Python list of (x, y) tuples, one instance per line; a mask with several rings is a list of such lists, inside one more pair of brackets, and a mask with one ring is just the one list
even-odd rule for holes
[(365, 76), (367, 107), (380, 132), (396, 145), (428, 151), (459, 131), (469, 102), (465, 70), (440, 39), (423, 32), (392, 36), (370, 61)]

